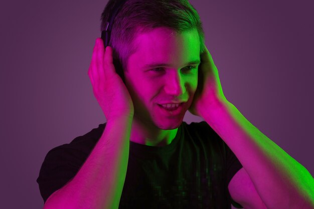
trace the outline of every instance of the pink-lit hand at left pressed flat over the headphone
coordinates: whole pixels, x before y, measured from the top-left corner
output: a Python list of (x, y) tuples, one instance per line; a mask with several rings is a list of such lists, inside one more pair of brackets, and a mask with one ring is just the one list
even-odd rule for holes
[(133, 102), (121, 77), (115, 72), (112, 48), (104, 49), (100, 38), (96, 39), (88, 76), (107, 121), (122, 116), (133, 117)]

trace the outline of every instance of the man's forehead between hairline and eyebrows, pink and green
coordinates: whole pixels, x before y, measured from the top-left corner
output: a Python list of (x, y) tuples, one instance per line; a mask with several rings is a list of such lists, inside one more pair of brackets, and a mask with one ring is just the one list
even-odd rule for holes
[(197, 30), (178, 33), (168, 28), (156, 28), (138, 33), (134, 39), (133, 58), (143, 64), (193, 62), (200, 59)]

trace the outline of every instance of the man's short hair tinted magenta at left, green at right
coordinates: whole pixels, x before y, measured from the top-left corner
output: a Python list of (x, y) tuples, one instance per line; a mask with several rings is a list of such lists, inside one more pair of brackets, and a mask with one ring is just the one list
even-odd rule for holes
[[(101, 31), (117, 0), (109, 0), (101, 15)], [(127, 0), (117, 13), (111, 30), (109, 46), (113, 58), (126, 70), (127, 60), (136, 51), (133, 41), (138, 33), (167, 27), (177, 33), (197, 29), (200, 53), (205, 50), (205, 38), (200, 16), (188, 0)]]

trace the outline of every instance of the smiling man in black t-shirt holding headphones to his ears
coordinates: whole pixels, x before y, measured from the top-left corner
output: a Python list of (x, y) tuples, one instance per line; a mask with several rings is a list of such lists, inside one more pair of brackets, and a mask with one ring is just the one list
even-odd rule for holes
[(88, 71), (107, 122), (47, 154), (44, 208), (314, 208), (308, 171), (225, 98), (187, 1), (126, 1), (110, 46)]

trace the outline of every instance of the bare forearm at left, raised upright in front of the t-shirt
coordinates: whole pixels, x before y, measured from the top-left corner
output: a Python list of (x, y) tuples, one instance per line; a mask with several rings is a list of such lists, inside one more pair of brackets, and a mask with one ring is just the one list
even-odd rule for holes
[(131, 121), (130, 117), (107, 121), (78, 173), (49, 197), (44, 208), (118, 208), (127, 169)]

